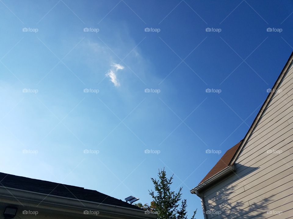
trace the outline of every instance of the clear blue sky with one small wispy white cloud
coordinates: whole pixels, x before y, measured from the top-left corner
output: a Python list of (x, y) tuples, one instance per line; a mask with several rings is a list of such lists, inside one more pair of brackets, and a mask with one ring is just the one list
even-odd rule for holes
[(293, 50), (292, 1), (0, 10), (1, 171), (146, 203), (165, 167), (197, 218), (190, 189), (244, 137)]

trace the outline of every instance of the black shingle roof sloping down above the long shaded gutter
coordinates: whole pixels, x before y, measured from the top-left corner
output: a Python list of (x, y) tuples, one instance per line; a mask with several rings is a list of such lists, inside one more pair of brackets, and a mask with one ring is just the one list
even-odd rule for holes
[(15, 176), (2, 172), (0, 172), (0, 186), (142, 210), (139, 207), (120, 199), (107, 196), (106, 194), (100, 193), (96, 190), (59, 184), (40, 179), (31, 179), (23, 176)]

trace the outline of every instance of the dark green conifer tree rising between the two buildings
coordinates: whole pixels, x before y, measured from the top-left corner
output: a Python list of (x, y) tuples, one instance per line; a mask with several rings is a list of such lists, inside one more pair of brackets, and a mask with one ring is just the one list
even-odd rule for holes
[[(158, 214), (158, 219), (187, 219), (187, 203), (186, 199), (181, 200), (182, 196), (182, 187), (179, 188), (179, 191), (171, 190), (171, 184), (173, 175), (170, 178), (167, 178), (165, 168), (159, 170), (158, 173), (159, 179), (151, 178), (154, 183), (154, 191), (148, 190), (153, 201), (149, 204), (137, 203), (137, 207), (143, 208), (150, 212), (156, 212)], [(180, 204), (181, 201), (181, 204)], [(194, 211), (191, 219), (194, 219), (196, 214)]]

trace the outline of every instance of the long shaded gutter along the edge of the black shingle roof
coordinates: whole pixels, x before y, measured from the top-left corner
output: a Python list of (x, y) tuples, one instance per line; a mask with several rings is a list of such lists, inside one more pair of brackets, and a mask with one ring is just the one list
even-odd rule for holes
[(156, 214), (145, 214), (144, 210), (120, 207), (116, 205), (78, 200), (43, 193), (0, 186), (1, 203), (50, 209), (74, 214), (83, 214), (84, 210), (99, 211), (99, 216), (107, 218), (156, 219)]

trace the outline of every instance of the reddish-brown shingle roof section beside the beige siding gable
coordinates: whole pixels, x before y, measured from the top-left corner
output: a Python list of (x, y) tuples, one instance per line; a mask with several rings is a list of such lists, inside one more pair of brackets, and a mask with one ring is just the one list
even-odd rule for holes
[(236, 153), (237, 149), (239, 148), (241, 142), (242, 142), (242, 140), (238, 144), (236, 144), (235, 146), (230, 148), (228, 151), (226, 151), (226, 153), (221, 157), (221, 159), (218, 161), (218, 163), (216, 163), (216, 165), (210, 170), (210, 172), (208, 172), (208, 174), (201, 180), (201, 182), (199, 184), (201, 184), (202, 182), (204, 182), (208, 178), (214, 176), (215, 174), (217, 174), (221, 170), (225, 169), (229, 165), (231, 159), (233, 158), (234, 154)]

